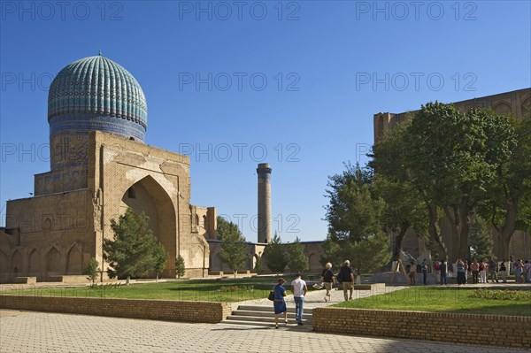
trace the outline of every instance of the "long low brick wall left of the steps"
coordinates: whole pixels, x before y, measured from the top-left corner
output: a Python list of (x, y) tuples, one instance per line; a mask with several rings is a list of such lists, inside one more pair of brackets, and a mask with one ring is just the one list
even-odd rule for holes
[(0, 295), (0, 308), (212, 324), (231, 313), (230, 303), (38, 295)]

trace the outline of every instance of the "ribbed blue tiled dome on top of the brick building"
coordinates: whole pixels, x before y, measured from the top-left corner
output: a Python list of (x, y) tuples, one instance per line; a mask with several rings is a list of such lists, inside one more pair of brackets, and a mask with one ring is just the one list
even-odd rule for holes
[(148, 107), (131, 73), (101, 55), (66, 65), (48, 94), (50, 134), (103, 130), (144, 140)]

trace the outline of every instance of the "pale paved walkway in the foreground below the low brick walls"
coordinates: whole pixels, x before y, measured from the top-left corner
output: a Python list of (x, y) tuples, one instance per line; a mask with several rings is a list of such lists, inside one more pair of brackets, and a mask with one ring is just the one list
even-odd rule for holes
[(0, 310), (0, 351), (15, 352), (467, 352), (497, 349), (289, 329), (187, 324)]

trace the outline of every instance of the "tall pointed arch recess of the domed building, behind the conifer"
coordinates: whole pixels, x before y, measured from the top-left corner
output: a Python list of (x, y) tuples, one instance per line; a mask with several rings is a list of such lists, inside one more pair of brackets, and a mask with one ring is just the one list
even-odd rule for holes
[(157, 180), (147, 176), (124, 192), (121, 213), (130, 207), (136, 214), (144, 212), (150, 218), (150, 229), (168, 253), (168, 261), (161, 277), (175, 276), (177, 257), (177, 222), (172, 199)]

